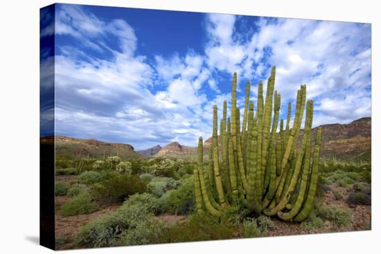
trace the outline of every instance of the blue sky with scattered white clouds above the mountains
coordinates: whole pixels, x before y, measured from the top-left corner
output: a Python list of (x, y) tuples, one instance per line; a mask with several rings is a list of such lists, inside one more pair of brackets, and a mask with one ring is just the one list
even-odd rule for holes
[[(307, 84), (314, 126), (371, 116), (371, 25), (57, 4), (57, 135), (135, 149), (211, 136), (213, 105), (238, 106), (276, 66), (281, 118)], [(254, 104), (255, 105), (255, 104)], [(219, 115), (221, 115), (219, 111)]]

